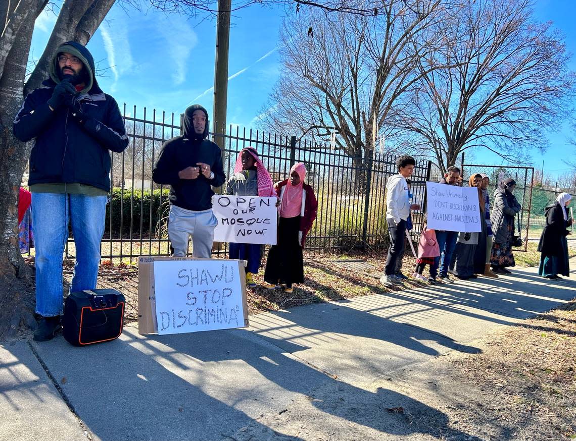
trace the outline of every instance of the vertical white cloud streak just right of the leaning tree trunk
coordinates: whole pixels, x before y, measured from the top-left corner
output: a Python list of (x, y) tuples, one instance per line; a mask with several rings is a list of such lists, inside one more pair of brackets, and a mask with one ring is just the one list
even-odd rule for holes
[(124, 17), (116, 16), (111, 21), (105, 22), (100, 27), (100, 34), (104, 41), (104, 49), (108, 57), (110, 70), (112, 75), (114, 75), (114, 83), (111, 87), (113, 93), (116, 91), (116, 83), (118, 83), (120, 75), (130, 71), (132, 66), (134, 66)]

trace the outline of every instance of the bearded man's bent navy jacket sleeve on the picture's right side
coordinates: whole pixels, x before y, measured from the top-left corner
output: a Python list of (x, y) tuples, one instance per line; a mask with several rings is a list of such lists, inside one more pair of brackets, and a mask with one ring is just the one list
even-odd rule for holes
[(88, 118), (82, 124), (85, 131), (90, 133), (103, 147), (113, 152), (122, 153), (128, 147), (128, 136), (126, 135), (126, 126), (120, 114), (118, 103), (115, 99), (108, 96), (107, 121), (98, 121), (94, 118)]

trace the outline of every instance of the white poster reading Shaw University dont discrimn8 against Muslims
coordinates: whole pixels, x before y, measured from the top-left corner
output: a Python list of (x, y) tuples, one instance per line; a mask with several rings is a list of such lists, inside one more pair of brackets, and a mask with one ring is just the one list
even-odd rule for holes
[(428, 228), (477, 233), (480, 224), (478, 189), (426, 182)]

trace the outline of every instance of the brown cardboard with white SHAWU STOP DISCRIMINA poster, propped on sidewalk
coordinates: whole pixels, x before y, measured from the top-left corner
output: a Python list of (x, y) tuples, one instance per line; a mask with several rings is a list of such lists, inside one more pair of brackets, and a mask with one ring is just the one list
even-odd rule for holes
[(138, 332), (247, 327), (245, 264), (245, 260), (140, 257)]

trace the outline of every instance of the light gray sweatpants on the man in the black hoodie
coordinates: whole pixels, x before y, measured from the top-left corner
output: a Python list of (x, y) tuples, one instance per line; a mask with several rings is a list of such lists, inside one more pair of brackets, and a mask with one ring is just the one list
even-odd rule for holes
[(186, 255), (188, 240), (192, 236), (192, 256), (210, 259), (216, 225), (218, 225), (218, 220), (212, 209), (194, 212), (171, 205), (168, 217), (168, 237), (174, 248), (173, 256), (184, 257)]

